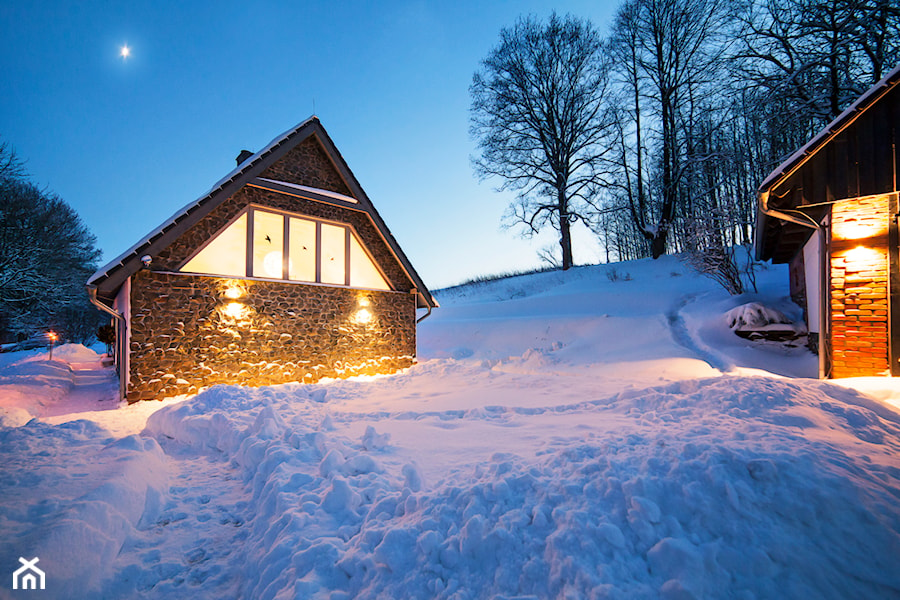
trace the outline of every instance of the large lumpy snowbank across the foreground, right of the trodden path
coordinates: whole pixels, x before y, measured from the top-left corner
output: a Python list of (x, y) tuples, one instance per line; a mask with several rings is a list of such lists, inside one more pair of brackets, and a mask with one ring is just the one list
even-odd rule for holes
[[(900, 593), (900, 415), (856, 392), (723, 377), (541, 410), (357, 415), (371, 423), (359, 437), (310, 392), (217, 387), (148, 423), (240, 474), (239, 596)], [(551, 416), (592, 428), (500, 440), (434, 481), (427, 456), (383, 433), (398, 419), (466, 431)]]

